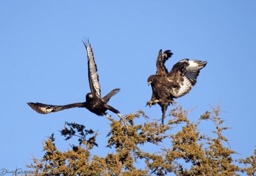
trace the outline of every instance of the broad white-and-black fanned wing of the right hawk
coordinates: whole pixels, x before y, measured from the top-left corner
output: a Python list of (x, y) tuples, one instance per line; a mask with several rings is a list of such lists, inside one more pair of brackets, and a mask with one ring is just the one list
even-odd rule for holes
[(206, 64), (206, 61), (183, 59), (173, 65), (167, 75), (167, 80), (174, 82), (170, 93), (175, 98), (187, 94), (196, 83), (200, 69), (205, 67)]

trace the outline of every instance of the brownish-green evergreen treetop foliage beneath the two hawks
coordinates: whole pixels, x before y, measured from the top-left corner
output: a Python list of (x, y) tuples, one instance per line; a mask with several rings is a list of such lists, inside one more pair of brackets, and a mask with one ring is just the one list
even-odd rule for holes
[[(85, 126), (65, 123), (60, 131), (65, 140), (78, 139), (78, 145), (71, 145), (66, 152), (57, 150), (51, 135), (43, 144), (42, 159), (33, 159), (27, 167), (33, 170), (33, 176), (238, 176), (245, 172), (248, 176), (256, 173), (256, 150), (254, 156), (238, 162), (250, 167), (240, 169), (235, 165), (228, 140), (222, 135), (227, 127), (222, 127), (219, 107), (202, 114), (196, 122), (188, 120), (189, 111), (180, 106), (172, 109), (172, 116), (166, 125), (149, 120), (142, 112), (128, 114), (122, 120), (113, 120), (107, 134), (107, 148), (114, 153), (105, 157), (91, 155), (91, 149), (97, 146), (97, 132), (86, 130)], [(135, 125), (136, 118), (145, 118), (146, 123)], [(194, 119), (194, 118), (193, 118)], [(202, 134), (198, 127), (201, 122), (212, 123), (212, 134)], [(174, 129), (178, 129), (177, 132)], [(162, 142), (169, 143), (162, 146)], [(143, 150), (142, 145), (151, 144), (158, 148), (154, 153)], [(144, 169), (136, 168), (136, 162), (144, 163)], [(187, 163), (184, 166), (184, 162)]]

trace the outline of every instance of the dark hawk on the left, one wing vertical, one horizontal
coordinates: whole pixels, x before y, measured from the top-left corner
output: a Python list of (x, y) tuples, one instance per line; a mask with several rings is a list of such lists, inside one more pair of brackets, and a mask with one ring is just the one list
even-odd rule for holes
[(90, 112), (103, 116), (105, 115), (109, 120), (111, 120), (110, 116), (107, 116), (106, 110), (110, 110), (113, 113), (117, 114), (118, 117), (121, 117), (119, 115), (119, 111), (114, 109), (113, 107), (107, 105), (107, 102), (109, 99), (114, 96), (117, 92), (120, 91), (119, 88), (111, 90), (106, 96), (101, 98), (100, 95), (100, 85), (98, 82), (98, 74), (97, 74), (97, 67), (94, 60), (92, 48), (90, 47), (90, 43), (87, 40), (87, 42), (82, 40), (86, 51), (87, 51), (87, 58), (88, 58), (88, 78), (89, 78), (89, 86), (90, 86), (90, 93), (86, 94), (86, 101), (83, 103), (72, 103), (68, 105), (58, 106), (58, 105), (47, 105), (42, 103), (27, 103), (33, 110), (35, 110), (37, 113), (40, 114), (48, 114), (51, 112), (57, 112), (64, 109), (69, 108), (86, 108)]

